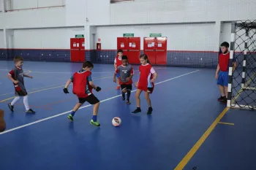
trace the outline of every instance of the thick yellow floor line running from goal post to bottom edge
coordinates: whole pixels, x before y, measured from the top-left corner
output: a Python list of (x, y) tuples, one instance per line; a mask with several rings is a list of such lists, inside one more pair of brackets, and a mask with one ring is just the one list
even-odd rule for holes
[(180, 163), (178, 163), (178, 166), (174, 170), (182, 170), (187, 165), (189, 160), (192, 158), (193, 155), (195, 155), (195, 152), (199, 149), (199, 147), (205, 142), (206, 138), (211, 134), (211, 131), (214, 130), (216, 125), (219, 123), (219, 120), (222, 119), (222, 117), (227, 113), (227, 110), (229, 108), (226, 107), (222, 113), (217, 117), (216, 120), (214, 120), (214, 123), (211, 124), (211, 126), (206, 130), (206, 132), (203, 134), (203, 136), (200, 137), (200, 139), (197, 141), (197, 143), (189, 150), (187, 155), (181, 160)]

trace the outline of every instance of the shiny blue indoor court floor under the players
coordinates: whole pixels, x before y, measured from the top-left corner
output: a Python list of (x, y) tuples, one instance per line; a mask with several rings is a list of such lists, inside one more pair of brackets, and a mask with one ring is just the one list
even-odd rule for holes
[[(101, 101), (99, 128), (89, 123), (92, 107), (84, 104), (74, 122), (67, 119), (78, 101), (62, 89), (81, 63), (24, 62), (23, 69), (34, 78), (26, 78), (29, 105), (36, 114), (26, 114), (23, 100), (10, 112), (12, 82), (7, 73), (12, 61), (0, 62), (0, 108), (5, 111), (7, 130), (0, 134), (0, 169), (7, 170), (167, 170), (175, 169), (225, 109), (217, 101), (219, 90), (215, 69), (155, 66), (158, 73), (151, 95), (154, 109), (146, 115), (147, 104), (141, 98), (142, 113), (121, 100), (113, 82), (113, 64), (95, 64), (92, 78), (102, 91), (94, 92)], [(134, 82), (138, 66), (134, 66)], [(135, 90), (135, 88), (133, 89)], [(121, 117), (118, 128), (111, 123)], [(184, 169), (256, 169), (255, 112), (231, 109), (214, 128)], [(186, 164), (186, 163), (185, 163)]]

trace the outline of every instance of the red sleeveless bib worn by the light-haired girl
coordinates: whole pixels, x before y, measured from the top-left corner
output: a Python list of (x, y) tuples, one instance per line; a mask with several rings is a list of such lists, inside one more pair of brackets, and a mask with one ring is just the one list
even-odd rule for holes
[(154, 88), (154, 82), (150, 82), (150, 80), (153, 78), (153, 75), (151, 74), (151, 64), (146, 65), (140, 65), (140, 79), (138, 81), (138, 89), (147, 91), (148, 88)]

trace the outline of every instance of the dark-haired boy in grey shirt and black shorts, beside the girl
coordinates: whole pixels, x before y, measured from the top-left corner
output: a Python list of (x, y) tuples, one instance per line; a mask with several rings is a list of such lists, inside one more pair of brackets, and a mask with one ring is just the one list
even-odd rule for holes
[(120, 74), (119, 82), (121, 85), (121, 95), (123, 101), (125, 100), (125, 93), (127, 93), (127, 104), (131, 104), (129, 101), (129, 96), (131, 96), (132, 90), (132, 76), (133, 69), (130, 64), (128, 64), (127, 55), (123, 55), (121, 58), (122, 64), (118, 66), (113, 77), (113, 81), (116, 82), (116, 74)]

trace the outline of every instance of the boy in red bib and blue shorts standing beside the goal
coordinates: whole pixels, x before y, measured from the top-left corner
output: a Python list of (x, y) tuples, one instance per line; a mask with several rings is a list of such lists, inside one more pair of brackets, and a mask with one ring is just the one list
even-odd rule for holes
[[(215, 73), (215, 79), (217, 79), (217, 85), (219, 87), (221, 96), (218, 101), (222, 103), (227, 103), (227, 86), (228, 86), (228, 68), (230, 61), (230, 52), (228, 50), (229, 44), (227, 42), (222, 42), (220, 45), (222, 53), (219, 54), (219, 63)], [(236, 69), (236, 58), (233, 56), (233, 70)], [(220, 71), (220, 72), (219, 72)]]

